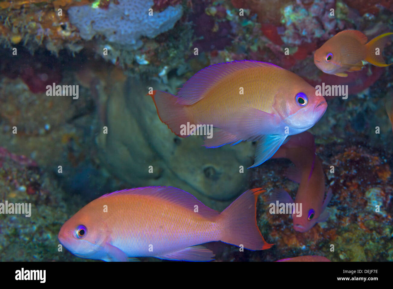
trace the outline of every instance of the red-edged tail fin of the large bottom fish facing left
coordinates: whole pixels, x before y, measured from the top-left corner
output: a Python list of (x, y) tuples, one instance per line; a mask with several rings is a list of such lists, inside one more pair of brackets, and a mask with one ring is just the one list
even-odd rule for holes
[(261, 188), (245, 191), (220, 214), (222, 242), (243, 245), (249, 250), (264, 250), (274, 245), (263, 239), (257, 226), (255, 205), (258, 195), (264, 191)]

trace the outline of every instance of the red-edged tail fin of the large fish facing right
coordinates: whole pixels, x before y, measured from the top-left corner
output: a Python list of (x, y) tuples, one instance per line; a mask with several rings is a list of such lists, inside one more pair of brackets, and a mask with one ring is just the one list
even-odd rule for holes
[(187, 135), (180, 134), (181, 125), (193, 123), (184, 105), (176, 103), (178, 98), (168, 92), (154, 90), (153, 94), (149, 94), (156, 105), (158, 117), (165, 123), (169, 129), (176, 135), (185, 138)]

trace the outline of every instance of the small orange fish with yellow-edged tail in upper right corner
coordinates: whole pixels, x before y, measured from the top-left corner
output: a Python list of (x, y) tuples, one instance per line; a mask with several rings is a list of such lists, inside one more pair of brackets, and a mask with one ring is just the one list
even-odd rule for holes
[(358, 30), (344, 30), (327, 40), (314, 53), (314, 63), (327, 74), (347, 77), (345, 72), (359, 71), (363, 68), (362, 61), (375, 66), (384, 67), (382, 50), (388, 40), (384, 33), (367, 43), (367, 36)]

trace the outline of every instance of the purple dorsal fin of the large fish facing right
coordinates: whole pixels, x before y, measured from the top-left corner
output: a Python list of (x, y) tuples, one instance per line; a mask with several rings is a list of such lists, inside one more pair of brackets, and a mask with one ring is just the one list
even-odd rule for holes
[(274, 67), (283, 69), (271, 63), (253, 60), (214, 64), (197, 72), (183, 85), (177, 94), (178, 100), (176, 103), (192, 105), (204, 98), (206, 93), (224, 77), (239, 70), (253, 67)]

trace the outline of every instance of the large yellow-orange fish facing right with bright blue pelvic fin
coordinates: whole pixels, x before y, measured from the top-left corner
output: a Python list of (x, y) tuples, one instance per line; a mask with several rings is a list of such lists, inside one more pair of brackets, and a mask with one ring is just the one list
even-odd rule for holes
[[(158, 116), (180, 137), (187, 125), (212, 125), (206, 147), (259, 141), (251, 167), (268, 160), (289, 135), (312, 127), (327, 103), (301, 77), (274, 64), (233, 61), (196, 73), (177, 96), (152, 95)], [(190, 127), (191, 127), (190, 125)]]

